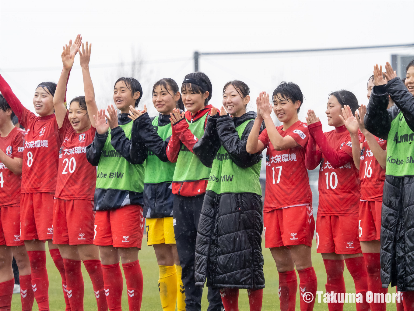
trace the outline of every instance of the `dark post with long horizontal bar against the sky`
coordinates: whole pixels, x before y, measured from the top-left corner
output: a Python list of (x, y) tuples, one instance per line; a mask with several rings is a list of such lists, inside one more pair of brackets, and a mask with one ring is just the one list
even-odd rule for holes
[(385, 49), (385, 48), (403, 48), (414, 47), (414, 43), (394, 44), (394, 45), (377, 45), (377, 46), (354, 46), (348, 48), (330, 48), (330, 49), (305, 49), (305, 50), (279, 50), (279, 51), (245, 51), (245, 52), (194, 52), (194, 71), (198, 71), (198, 60), (201, 55), (240, 55), (240, 54), (280, 54), (280, 53), (306, 53), (306, 52), (328, 52), (328, 51), (347, 51), (347, 50), (364, 50), (364, 49)]

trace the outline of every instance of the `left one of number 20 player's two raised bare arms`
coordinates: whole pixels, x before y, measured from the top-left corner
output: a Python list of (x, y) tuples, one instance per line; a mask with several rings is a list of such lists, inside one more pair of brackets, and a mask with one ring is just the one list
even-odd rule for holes
[(70, 70), (73, 66), (73, 61), (75, 61), (75, 55), (79, 49), (81, 43), (81, 36), (78, 34), (75, 39), (75, 43), (72, 45), (72, 40), (69, 41), (69, 45), (63, 47), (62, 52), (62, 63), (63, 69), (60, 74), (58, 85), (56, 85), (55, 95), (53, 96), (53, 107), (55, 109), (55, 117), (58, 122), (58, 127), (61, 128), (63, 125), (63, 120), (66, 116), (66, 86), (69, 81)]

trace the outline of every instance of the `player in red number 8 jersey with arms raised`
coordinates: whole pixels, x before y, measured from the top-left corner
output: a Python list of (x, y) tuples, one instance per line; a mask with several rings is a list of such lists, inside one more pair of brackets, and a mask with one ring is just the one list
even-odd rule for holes
[[(77, 36), (70, 50), (76, 51), (82, 38)], [(26, 109), (0, 75), (0, 92), (4, 95), (19, 123), (26, 129), (24, 136), (22, 188), (20, 204), (21, 236), (29, 255), (31, 284), (39, 311), (49, 310), (49, 280), (46, 270), (45, 241), (62, 277), (66, 311), (70, 310), (65, 287), (65, 267), (53, 237), (53, 197), (58, 175), (58, 151), (62, 144), (53, 111), (56, 84), (43, 82), (36, 87), (33, 105), (39, 117)], [(45, 165), (47, 163), (47, 165)]]

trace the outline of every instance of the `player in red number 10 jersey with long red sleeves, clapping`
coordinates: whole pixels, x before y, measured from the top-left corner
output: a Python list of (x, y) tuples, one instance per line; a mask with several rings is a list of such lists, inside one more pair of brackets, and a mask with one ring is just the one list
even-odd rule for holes
[[(335, 130), (323, 133), (322, 124), (309, 110), (306, 121), (310, 138), (306, 148), (306, 168), (319, 170), (319, 206), (316, 220), (316, 248), (322, 253), (327, 273), (325, 288), (330, 294), (328, 309), (342, 310), (345, 293), (344, 259), (354, 279), (358, 311), (368, 310), (367, 272), (358, 239), (359, 177), (352, 158), (352, 144), (359, 144), (359, 133), (349, 134), (342, 117), (345, 104), (352, 112), (358, 100), (347, 90), (329, 95), (326, 114)], [(354, 151), (355, 152), (355, 151)]]

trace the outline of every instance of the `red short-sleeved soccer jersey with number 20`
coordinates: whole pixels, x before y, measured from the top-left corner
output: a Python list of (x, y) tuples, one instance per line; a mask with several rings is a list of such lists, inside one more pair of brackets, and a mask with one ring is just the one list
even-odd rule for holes
[[(65, 117), (65, 121), (67, 116)], [(92, 143), (96, 129), (76, 133), (69, 122), (59, 130), (64, 137), (59, 150), (58, 183), (55, 197), (65, 200), (93, 200), (96, 167), (86, 159), (86, 147)]]

